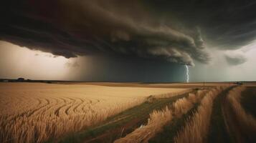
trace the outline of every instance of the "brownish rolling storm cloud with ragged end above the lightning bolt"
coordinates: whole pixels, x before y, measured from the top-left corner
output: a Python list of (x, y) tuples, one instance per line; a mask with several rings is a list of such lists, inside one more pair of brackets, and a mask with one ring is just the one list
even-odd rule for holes
[(193, 59), (209, 60), (199, 29), (172, 29), (136, 1), (26, 1), (9, 6), (3, 11), (1, 39), (29, 49), (67, 58), (114, 53), (189, 65)]

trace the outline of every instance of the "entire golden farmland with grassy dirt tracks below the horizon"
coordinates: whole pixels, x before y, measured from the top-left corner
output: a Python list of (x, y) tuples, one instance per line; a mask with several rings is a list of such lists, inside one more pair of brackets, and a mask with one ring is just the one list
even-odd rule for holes
[(0, 83), (0, 142), (255, 142), (255, 91), (254, 83)]

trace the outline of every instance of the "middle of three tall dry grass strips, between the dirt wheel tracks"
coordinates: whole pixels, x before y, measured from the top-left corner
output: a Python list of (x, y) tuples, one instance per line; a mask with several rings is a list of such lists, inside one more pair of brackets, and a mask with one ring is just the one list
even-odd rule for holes
[(201, 105), (198, 107), (197, 112), (193, 114), (191, 119), (189, 119), (177, 136), (174, 137), (174, 141), (176, 143), (204, 142), (209, 130), (208, 128), (212, 114), (212, 104), (214, 98), (217, 97), (221, 91), (222, 88), (217, 87), (216, 89), (212, 89), (207, 93), (207, 95), (202, 99)]

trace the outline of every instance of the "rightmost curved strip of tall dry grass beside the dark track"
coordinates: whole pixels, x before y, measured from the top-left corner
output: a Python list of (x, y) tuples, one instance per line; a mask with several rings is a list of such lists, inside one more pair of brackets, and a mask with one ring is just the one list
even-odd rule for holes
[(240, 121), (240, 124), (242, 124), (248, 132), (256, 134), (256, 119), (252, 117), (251, 114), (247, 114), (240, 104), (241, 93), (245, 89), (246, 87), (236, 87), (232, 89), (229, 92), (227, 99), (232, 105), (232, 109), (234, 110), (237, 119)]

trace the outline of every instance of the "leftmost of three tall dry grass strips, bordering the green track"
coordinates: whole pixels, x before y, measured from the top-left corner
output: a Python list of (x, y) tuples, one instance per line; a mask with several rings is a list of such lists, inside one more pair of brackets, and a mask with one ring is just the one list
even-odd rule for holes
[(186, 114), (193, 106), (194, 103), (199, 102), (204, 96), (206, 90), (199, 90), (196, 94), (189, 93), (189, 97), (178, 99), (171, 108), (166, 107), (159, 111), (154, 110), (148, 119), (146, 126), (141, 126), (138, 129), (131, 132), (127, 136), (115, 140), (115, 143), (131, 142), (148, 142), (149, 139), (154, 137), (158, 132), (161, 132), (162, 127), (171, 122), (174, 117), (181, 117), (182, 114)]

